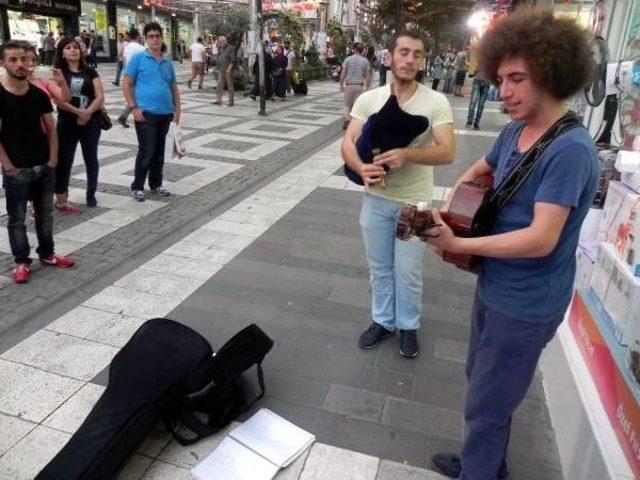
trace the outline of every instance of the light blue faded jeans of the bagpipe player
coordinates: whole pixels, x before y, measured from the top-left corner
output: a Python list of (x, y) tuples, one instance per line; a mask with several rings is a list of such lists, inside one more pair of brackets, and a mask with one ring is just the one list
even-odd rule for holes
[(387, 330), (416, 330), (422, 312), (423, 242), (395, 236), (403, 203), (365, 193), (360, 212), (371, 282), (373, 321)]

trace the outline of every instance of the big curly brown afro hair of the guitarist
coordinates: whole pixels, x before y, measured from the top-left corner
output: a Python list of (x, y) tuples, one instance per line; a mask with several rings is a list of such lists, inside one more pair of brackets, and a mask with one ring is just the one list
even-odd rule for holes
[(498, 68), (510, 58), (521, 58), (533, 82), (555, 98), (570, 97), (593, 75), (593, 57), (587, 32), (552, 10), (520, 7), (484, 34), (478, 49), (479, 70), (498, 82)]

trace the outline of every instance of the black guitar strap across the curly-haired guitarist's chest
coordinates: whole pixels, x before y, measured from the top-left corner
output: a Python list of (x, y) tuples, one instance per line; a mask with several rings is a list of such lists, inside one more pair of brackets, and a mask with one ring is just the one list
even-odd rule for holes
[(493, 225), (498, 212), (515, 195), (518, 189), (527, 181), (542, 154), (551, 143), (563, 133), (582, 126), (575, 113), (565, 113), (542, 137), (522, 156), (518, 164), (500, 185), (487, 196), (474, 216), (471, 225), (473, 236), (485, 235)]

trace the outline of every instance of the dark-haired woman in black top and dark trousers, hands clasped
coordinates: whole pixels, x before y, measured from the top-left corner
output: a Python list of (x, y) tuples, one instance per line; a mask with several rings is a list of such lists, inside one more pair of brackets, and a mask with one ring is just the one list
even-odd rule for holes
[(67, 197), (78, 142), (87, 170), (87, 206), (98, 204), (100, 123), (95, 117), (104, 104), (104, 90), (98, 73), (87, 65), (76, 39), (65, 38), (58, 44), (54, 65), (62, 70), (71, 90), (71, 102), (55, 102), (58, 106), (59, 139), (55, 206), (59, 211), (77, 215), (80, 210), (70, 206)]

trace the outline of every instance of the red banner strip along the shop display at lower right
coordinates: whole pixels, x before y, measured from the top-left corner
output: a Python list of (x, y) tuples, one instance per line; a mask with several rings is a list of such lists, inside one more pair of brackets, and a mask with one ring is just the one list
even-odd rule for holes
[(589, 308), (591, 300), (587, 295), (587, 291), (575, 293), (569, 325), (622, 450), (636, 477), (640, 478), (640, 408), (624, 379), (621, 371), (624, 367), (616, 363), (600, 331), (596, 309)]

